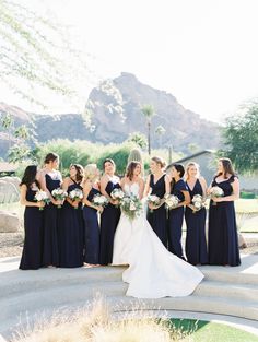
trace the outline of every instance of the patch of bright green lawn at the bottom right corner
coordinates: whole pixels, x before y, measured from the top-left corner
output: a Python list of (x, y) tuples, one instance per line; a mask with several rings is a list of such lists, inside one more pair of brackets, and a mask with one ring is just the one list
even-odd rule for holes
[(179, 335), (186, 334), (180, 342), (258, 342), (258, 335), (222, 323), (174, 318), (169, 323), (173, 331), (175, 327)]

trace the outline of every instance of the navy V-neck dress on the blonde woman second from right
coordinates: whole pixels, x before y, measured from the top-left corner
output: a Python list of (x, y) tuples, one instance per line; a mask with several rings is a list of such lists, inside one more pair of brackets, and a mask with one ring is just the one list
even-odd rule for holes
[[(197, 179), (191, 190), (188, 185), (190, 198), (195, 194), (203, 194), (200, 180)], [(206, 208), (192, 212), (189, 207), (185, 210), (186, 220), (186, 257), (191, 264), (208, 263), (207, 241), (206, 241)]]

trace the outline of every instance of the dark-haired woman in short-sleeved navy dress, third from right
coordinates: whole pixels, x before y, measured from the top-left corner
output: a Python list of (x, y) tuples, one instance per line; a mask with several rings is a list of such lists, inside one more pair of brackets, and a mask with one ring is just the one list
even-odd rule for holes
[(183, 180), (185, 174), (181, 164), (174, 164), (172, 166), (172, 194), (177, 196), (179, 203), (176, 208), (168, 212), (168, 250), (178, 258), (185, 259), (181, 248), (181, 226), (184, 221), (184, 205), (190, 203), (190, 194), (185, 181)]

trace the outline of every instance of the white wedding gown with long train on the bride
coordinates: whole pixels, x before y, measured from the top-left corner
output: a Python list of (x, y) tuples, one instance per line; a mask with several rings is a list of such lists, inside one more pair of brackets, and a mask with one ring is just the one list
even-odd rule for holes
[[(125, 192), (139, 194), (139, 185), (125, 185)], [(130, 221), (121, 213), (115, 240), (113, 264), (129, 264), (122, 273), (126, 295), (137, 298), (190, 295), (203, 279), (194, 266), (171, 253), (150, 226), (144, 211)]]

